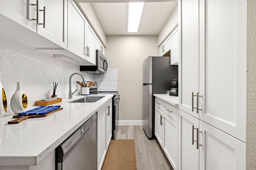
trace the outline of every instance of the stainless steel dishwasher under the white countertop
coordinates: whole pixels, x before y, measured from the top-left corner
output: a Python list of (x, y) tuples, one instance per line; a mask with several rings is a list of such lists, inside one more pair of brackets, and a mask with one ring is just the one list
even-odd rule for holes
[(96, 113), (55, 149), (56, 170), (96, 170)]

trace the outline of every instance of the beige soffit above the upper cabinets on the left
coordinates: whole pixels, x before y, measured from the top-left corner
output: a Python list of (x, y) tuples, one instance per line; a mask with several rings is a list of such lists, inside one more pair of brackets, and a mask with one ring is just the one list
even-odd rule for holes
[(96, 34), (98, 34), (98, 37), (100, 38), (103, 45), (106, 47), (107, 40), (106, 40), (106, 34), (103, 30), (100, 20), (98, 19), (97, 14), (95, 13), (94, 7), (91, 3), (79, 3), (82, 10), (84, 10), (85, 17), (87, 18), (88, 22), (90, 23), (91, 27), (93, 27)]

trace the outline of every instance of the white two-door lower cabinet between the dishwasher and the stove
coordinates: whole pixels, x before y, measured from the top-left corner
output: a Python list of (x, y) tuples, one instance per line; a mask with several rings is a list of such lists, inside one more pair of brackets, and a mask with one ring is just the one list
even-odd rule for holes
[(97, 113), (97, 170), (101, 170), (112, 136), (112, 99)]

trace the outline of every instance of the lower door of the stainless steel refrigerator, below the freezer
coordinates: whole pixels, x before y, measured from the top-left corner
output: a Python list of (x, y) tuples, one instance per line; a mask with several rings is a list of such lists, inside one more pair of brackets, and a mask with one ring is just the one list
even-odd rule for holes
[(152, 85), (143, 85), (142, 98), (143, 129), (148, 138), (152, 138)]

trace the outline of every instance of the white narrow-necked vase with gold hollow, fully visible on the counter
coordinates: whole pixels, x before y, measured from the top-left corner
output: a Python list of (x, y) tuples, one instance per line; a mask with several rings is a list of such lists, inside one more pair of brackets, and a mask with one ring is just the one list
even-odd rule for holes
[(21, 82), (17, 82), (17, 89), (11, 98), (11, 109), (13, 113), (24, 112), (27, 108), (27, 95), (21, 89)]

